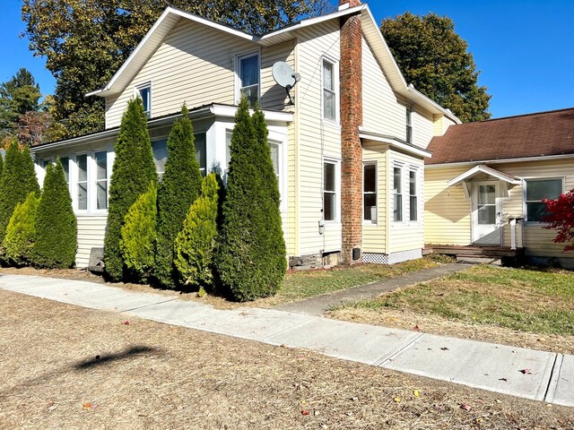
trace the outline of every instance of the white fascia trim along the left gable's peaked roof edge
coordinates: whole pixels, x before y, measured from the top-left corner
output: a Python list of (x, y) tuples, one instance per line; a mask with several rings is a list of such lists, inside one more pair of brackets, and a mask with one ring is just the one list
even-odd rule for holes
[[(170, 15), (175, 15), (179, 19), (184, 18), (184, 19), (187, 19), (187, 20), (192, 21), (192, 22), (197, 22), (199, 24), (203, 24), (203, 25), (205, 25), (207, 27), (211, 27), (215, 30), (220, 30), (220, 31), (223, 31), (225, 33), (228, 33), (228, 34), (235, 36), (239, 39), (245, 39), (245, 40), (249, 40), (249, 41), (256, 41), (256, 39), (257, 39), (255, 36), (251, 36), (250, 34), (244, 33), (242, 31), (231, 29), (230, 27), (219, 24), (217, 22), (213, 22), (213, 21), (201, 18), (200, 16), (194, 15), (193, 13), (187, 13), (187, 12), (182, 11), (180, 9), (176, 9), (175, 7), (168, 6), (168, 7), (166, 7), (165, 11), (163, 11), (163, 13), (161, 13), (160, 18), (158, 18), (158, 20), (153, 24), (152, 28), (145, 34), (142, 41), (137, 45), (137, 47), (135, 47), (134, 52), (132, 52), (132, 54), (127, 57), (124, 64), (122, 64), (122, 66), (119, 68), (117, 73), (114, 74), (114, 76), (111, 78), (111, 80), (108, 82), (108, 84), (106, 84), (106, 86), (104, 88), (101, 88), (100, 90), (95, 90), (95, 91), (91, 91), (91, 92), (87, 93), (85, 95), (85, 97), (90, 97), (90, 96), (106, 97), (106, 96), (109, 96), (110, 94), (112, 94), (113, 93), (112, 87), (117, 82), (117, 79), (122, 75), (122, 73), (124, 73), (126, 71), (126, 68), (135, 61), (136, 57), (140, 56), (141, 51), (143, 51), (143, 47), (145, 47), (148, 43), (150, 43), (150, 40), (155, 35), (155, 33), (162, 26), (167, 25), (170, 28), (162, 29), (162, 30), (167, 30), (166, 31), (166, 34), (167, 34), (167, 32), (169, 32), (171, 30), (171, 28), (173, 28), (175, 26), (175, 24), (177, 22), (174, 22), (172, 25), (165, 23), (166, 20), (168, 19), (168, 17), (170, 17)], [(161, 40), (163, 40), (163, 38), (161, 38)], [(154, 43), (152, 42), (153, 46), (149, 49), (149, 51), (150, 52), (155, 51), (155, 49), (157, 49), (157, 47), (160, 46), (161, 40), (156, 41)]]

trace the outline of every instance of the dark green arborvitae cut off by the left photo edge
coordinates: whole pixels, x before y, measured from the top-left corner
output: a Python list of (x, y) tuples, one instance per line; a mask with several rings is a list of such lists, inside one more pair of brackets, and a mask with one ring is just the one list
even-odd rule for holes
[(13, 140), (6, 150), (2, 177), (0, 177), (0, 243), (4, 240), (6, 227), (12, 218), (16, 204), (24, 202), (31, 192), (39, 195), (38, 178), (30, 149), (23, 150)]

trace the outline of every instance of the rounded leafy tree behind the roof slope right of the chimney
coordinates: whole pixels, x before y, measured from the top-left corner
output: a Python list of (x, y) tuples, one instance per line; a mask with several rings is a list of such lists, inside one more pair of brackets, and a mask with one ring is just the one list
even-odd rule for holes
[(407, 12), (384, 20), (381, 31), (404, 78), (415, 89), (464, 122), (491, 117), (491, 96), (478, 85), (480, 72), (473, 55), (450, 18)]

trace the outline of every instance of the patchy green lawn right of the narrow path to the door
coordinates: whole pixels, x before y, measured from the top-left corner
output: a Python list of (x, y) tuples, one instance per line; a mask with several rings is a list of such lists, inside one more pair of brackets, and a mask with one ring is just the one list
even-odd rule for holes
[(343, 308), (371, 313), (401, 311), (516, 331), (573, 336), (574, 272), (480, 265)]

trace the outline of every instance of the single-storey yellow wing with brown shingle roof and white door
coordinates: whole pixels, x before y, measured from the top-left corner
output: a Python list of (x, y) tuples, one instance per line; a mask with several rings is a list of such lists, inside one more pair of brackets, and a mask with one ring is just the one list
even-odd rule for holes
[(574, 108), (453, 125), (428, 150), (427, 244), (524, 247), (535, 262), (574, 266), (542, 228), (541, 202), (574, 189)]

